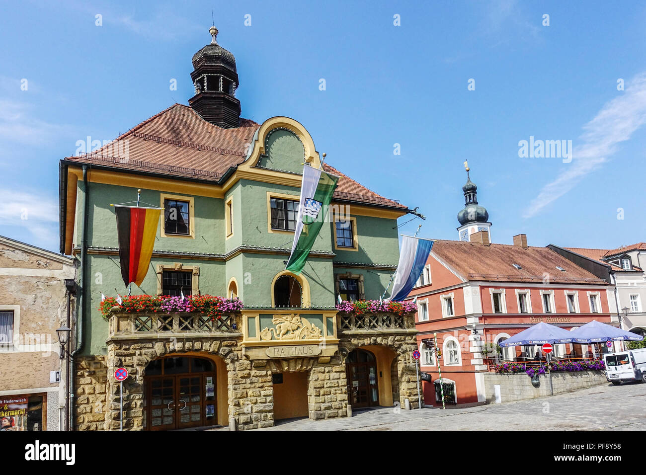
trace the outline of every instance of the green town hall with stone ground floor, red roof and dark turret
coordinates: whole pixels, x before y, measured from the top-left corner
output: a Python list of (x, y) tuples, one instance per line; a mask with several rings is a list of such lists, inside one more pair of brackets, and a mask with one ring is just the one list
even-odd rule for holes
[[(291, 417), (348, 417), (417, 406), (413, 313), (344, 313), (379, 300), (410, 210), (326, 163), (298, 121), (240, 118), (233, 54), (193, 56), (195, 95), (91, 153), (60, 161), (61, 253), (79, 263), (68, 345), (70, 420), (78, 430), (271, 427)], [(286, 271), (303, 164), (340, 176), (300, 275)], [(99, 310), (121, 296), (114, 207), (162, 208), (151, 264), (132, 295), (238, 298), (241, 311)], [(145, 204), (144, 204), (145, 203)], [(306, 232), (306, 231), (304, 231)], [(125, 297), (124, 297), (125, 299)], [(123, 401), (116, 368), (125, 367)]]

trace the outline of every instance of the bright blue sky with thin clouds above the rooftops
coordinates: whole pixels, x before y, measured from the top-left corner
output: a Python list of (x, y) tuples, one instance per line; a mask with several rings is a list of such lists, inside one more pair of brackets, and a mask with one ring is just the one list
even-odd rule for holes
[[(0, 235), (58, 249), (59, 159), (187, 103), (211, 8), (242, 116), (300, 121), (330, 164), (419, 207), (420, 236), (457, 238), (468, 160), (494, 242), (645, 240), (646, 4), (621, 1), (3, 3)], [(520, 158), (530, 136), (571, 140), (572, 161)]]

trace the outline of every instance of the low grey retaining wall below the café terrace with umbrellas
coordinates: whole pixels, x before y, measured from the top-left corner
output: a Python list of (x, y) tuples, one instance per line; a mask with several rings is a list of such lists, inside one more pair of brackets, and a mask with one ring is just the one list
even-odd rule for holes
[[(539, 377), (539, 383), (532, 385), (532, 379), (525, 373), (496, 374), (485, 373), (485, 397), (487, 403), (495, 403), (495, 386), (500, 386), (501, 402), (533, 399), (550, 396), (550, 381), (547, 374)], [(553, 372), (554, 394), (589, 388), (607, 383), (605, 374), (597, 371)]]

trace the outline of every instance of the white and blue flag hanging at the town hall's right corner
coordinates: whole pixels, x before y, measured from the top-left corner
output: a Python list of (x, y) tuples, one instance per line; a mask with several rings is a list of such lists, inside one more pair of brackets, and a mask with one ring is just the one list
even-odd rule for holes
[(393, 291), (390, 294), (391, 301), (401, 302), (408, 296), (415, 282), (422, 275), (432, 247), (433, 241), (430, 239), (410, 236), (402, 238), (399, 264), (395, 271)]

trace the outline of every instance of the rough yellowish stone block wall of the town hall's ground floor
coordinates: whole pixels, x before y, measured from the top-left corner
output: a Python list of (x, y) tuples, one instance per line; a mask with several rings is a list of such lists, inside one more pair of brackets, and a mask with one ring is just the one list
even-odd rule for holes
[[(203, 354), (216, 356), (227, 370), (228, 421), (239, 430), (274, 425), (274, 373), (307, 373), (307, 412), (310, 419), (348, 416), (348, 381), (345, 356), (355, 348), (384, 346), (393, 354), (390, 370), (393, 401), (408, 399), (413, 407), (419, 401), (412, 352), (417, 348), (414, 330), (393, 332), (340, 332), (340, 352), (331, 358), (291, 358), (249, 360), (242, 355), (242, 335), (189, 336), (183, 339), (151, 335), (132, 339), (113, 337), (106, 356), (80, 357), (76, 372), (76, 417), (79, 430), (119, 430), (120, 390), (112, 377), (123, 366), (129, 378), (123, 383), (123, 428), (146, 427), (143, 377), (152, 360), (166, 355)], [(222, 388), (224, 391), (224, 388)], [(304, 395), (303, 395), (304, 396)], [(389, 396), (390, 397), (390, 396)], [(222, 423), (222, 418), (218, 419)]]

